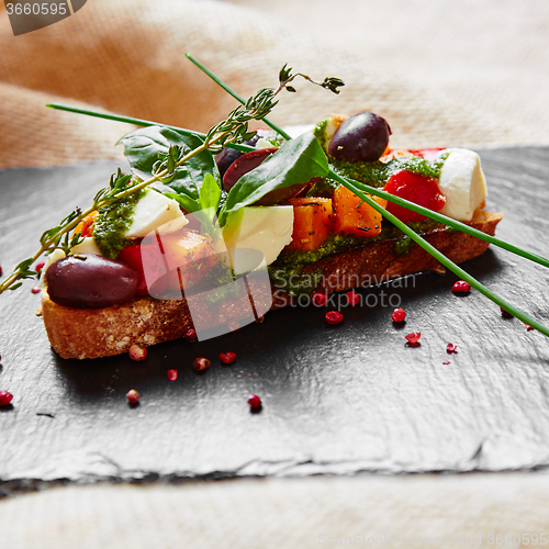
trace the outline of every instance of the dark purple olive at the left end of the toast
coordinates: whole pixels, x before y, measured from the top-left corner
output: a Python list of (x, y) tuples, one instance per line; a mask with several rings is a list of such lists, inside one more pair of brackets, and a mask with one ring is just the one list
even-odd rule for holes
[(52, 301), (76, 309), (101, 309), (131, 301), (138, 281), (139, 274), (130, 267), (94, 255), (64, 257), (46, 271)]

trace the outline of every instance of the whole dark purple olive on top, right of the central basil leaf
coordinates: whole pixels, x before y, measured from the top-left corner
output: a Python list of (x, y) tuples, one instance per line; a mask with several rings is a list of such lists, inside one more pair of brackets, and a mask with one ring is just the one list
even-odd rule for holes
[(379, 160), (389, 145), (390, 135), (385, 119), (372, 112), (359, 112), (337, 128), (329, 142), (328, 155), (349, 163)]

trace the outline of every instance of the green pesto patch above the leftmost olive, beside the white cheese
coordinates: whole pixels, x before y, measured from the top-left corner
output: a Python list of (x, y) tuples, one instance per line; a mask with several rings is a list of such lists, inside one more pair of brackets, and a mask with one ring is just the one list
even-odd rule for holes
[(99, 211), (93, 222), (93, 238), (104, 257), (116, 259), (120, 251), (132, 244), (123, 235), (130, 228), (135, 205), (145, 192), (131, 194)]

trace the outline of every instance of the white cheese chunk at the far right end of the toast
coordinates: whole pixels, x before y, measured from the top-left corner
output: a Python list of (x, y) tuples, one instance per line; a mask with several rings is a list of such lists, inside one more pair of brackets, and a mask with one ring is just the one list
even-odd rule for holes
[(458, 221), (468, 222), (486, 198), (486, 180), (480, 157), (473, 150), (450, 148), (440, 172), (438, 187), (446, 197), (440, 213)]

